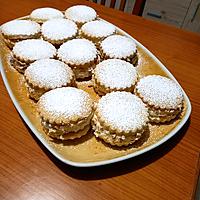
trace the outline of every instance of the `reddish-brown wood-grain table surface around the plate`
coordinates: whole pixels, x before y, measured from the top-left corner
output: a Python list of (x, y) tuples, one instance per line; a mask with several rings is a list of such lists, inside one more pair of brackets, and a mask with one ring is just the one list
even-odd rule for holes
[(54, 158), (17, 113), (0, 78), (0, 199), (193, 199), (200, 153), (200, 35), (77, 0), (1, 1), (0, 23), (38, 7), (87, 4), (155, 54), (192, 103), (181, 131), (149, 153), (120, 163), (75, 168)]

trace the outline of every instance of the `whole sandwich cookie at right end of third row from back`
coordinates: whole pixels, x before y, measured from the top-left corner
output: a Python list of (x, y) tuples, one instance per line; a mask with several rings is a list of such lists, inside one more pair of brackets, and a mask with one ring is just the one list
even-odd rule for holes
[(122, 35), (111, 35), (100, 43), (100, 54), (103, 60), (118, 58), (137, 65), (136, 43)]

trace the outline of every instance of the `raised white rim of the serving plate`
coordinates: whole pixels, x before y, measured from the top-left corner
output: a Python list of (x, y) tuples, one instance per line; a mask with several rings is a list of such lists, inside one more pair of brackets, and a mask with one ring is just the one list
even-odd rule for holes
[[(101, 19), (101, 20), (103, 20), (103, 19)], [(111, 24), (110, 22), (108, 22), (106, 20), (103, 20), (103, 21)], [(116, 28), (117, 31), (119, 31), (122, 34), (124, 34), (125, 36), (131, 38), (137, 44), (138, 47), (142, 48), (145, 51), (145, 53), (147, 53), (161, 67), (161, 69), (181, 87), (181, 85), (176, 80), (176, 78), (173, 76), (173, 74), (164, 66), (164, 64), (153, 53), (151, 53), (151, 51), (149, 51), (144, 45), (142, 45), (139, 41), (137, 41), (135, 38), (133, 38), (131, 35), (129, 35), (125, 31), (123, 31), (119, 27), (115, 26), (115, 28)], [(37, 137), (37, 139), (42, 143), (42, 145), (44, 145), (45, 148), (53, 156), (55, 156), (61, 162), (65, 163), (65, 164), (68, 164), (68, 165), (71, 165), (71, 166), (74, 166), (74, 167), (103, 166), (103, 165), (112, 164), (112, 163), (120, 162), (120, 161), (123, 161), (123, 160), (127, 160), (127, 159), (130, 159), (130, 158), (134, 158), (134, 157), (142, 155), (142, 154), (144, 154), (144, 153), (146, 153), (148, 151), (151, 151), (151, 150), (155, 149), (156, 147), (160, 146), (161, 144), (165, 143), (166, 141), (168, 141), (170, 138), (172, 138), (183, 127), (183, 125), (187, 122), (187, 120), (190, 117), (191, 111), (192, 111), (192, 106), (191, 106), (191, 102), (189, 100), (189, 97), (187, 96), (187, 94), (185, 93), (183, 88), (181, 87), (181, 89), (183, 91), (184, 99), (185, 99), (186, 104), (187, 104), (187, 109), (186, 109), (185, 115), (182, 118), (182, 120), (179, 122), (179, 124), (175, 128), (173, 128), (169, 132), (169, 134), (164, 136), (162, 139), (160, 139), (156, 143), (151, 144), (151, 145), (149, 145), (149, 146), (147, 146), (147, 147), (145, 147), (143, 149), (140, 149), (140, 150), (138, 150), (136, 152), (129, 153), (127, 155), (120, 156), (120, 157), (117, 157), (117, 158), (112, 158), (112, 159), (102, 160), (102, 161), (95, 161), (95, 162), (75, 162), (75, 161), (68, 160), (68, 159), (64, 158), (63, 156), (61, 156), (59, 153), (57, 153), (57, 151), (55, 149), (53, 149), (53, 147), (50, 146), (50, 144), (46, 141), (46, 139), (44, 137), (42, 137), (42, 135), (39, 133), (39, 131), (30, 122), (30, 120), (28, 119), (28, 117), (24, 113), (23, 109), (19, 105), (18, 101), (16, 100), (16, 98), (15, 98), (13, 92), (12, 92), (12, 89), (11, 89), (11, 87), (9, 85), (9, 82), (8, 82), (7, 78), (6, 78), (5, 69), (3, 67), (1, 59), (0, 59), (0, 71), (1, 71), (1, 76), (2, 76), (2, 79), (3, 79), (4, 85), (5, 85), (5, 87), (6, 87), (7, 91), (8, 91), (8, 94), (9, 94), (14, 106), (16, 107), (18, 113), (21, 115), (21, 117), (23, 118), (25, 123), (31, 129), (33, 134)]]

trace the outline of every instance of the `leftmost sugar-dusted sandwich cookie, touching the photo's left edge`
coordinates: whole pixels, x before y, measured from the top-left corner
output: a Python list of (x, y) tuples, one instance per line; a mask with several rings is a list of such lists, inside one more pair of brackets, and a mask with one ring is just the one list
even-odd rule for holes
[(30, 20), (12, 20), (1, 26), (1, 33), (9, 48), (16, 42), (40, 37), (40, 25)]

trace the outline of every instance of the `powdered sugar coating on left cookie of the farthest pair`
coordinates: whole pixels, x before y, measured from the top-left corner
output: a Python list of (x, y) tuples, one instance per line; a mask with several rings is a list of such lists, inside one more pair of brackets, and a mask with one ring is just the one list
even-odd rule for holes
[(39, 20), (49, 20), (54, 18), (63, 18), (64, 15), (61, 11), (55, 8), (37, 8), (33, 10), (30, 14), (30, 18)]

